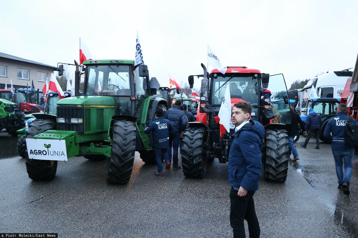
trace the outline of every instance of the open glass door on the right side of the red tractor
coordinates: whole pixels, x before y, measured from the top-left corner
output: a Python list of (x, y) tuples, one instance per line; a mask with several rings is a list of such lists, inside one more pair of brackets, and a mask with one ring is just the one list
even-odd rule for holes
[(284, 100), (285, 97), (288, 99), (284, 76), (282, 74), (270, 75), (267, 89), (271, 91), (271, 106), (275, 108), (277, 117), (281, 116), (280, 123), (291, 124), (290, 106)]

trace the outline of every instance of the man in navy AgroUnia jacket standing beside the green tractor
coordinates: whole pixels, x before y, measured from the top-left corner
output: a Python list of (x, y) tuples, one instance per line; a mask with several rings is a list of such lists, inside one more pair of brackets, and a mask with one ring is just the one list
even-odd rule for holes
[(169, 120), (164, 119), (163, 109), (158, 108), (155, 111), (155, 120), (153, 120), (144, 133), (148, 134), (153, 131), (153, 147), (155, 153), (155, 161), (158, 167), (158, 171), (154, 173), (155, 176), (163, 176), (163, 166), (161, 165), (161, 157), (164, 156), (165, 162), (169, 161), (168, 147), (169, 147), (169, 131), (173, 129)]

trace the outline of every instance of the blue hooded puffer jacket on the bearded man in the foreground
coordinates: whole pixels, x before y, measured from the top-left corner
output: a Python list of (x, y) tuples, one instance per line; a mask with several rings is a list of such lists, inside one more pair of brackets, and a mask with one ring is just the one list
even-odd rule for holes
[(247, 191), (258, 189), (262, 169), (261, 139), (264, 137), (263, 126), (252, 120), (231, 136), (228, 183), (232, 187), (241, 186)]

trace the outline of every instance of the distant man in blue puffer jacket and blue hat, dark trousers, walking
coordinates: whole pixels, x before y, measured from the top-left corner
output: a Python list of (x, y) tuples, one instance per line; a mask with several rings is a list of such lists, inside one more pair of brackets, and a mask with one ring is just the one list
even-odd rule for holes
[(308, 141), (314, 134), (314, 138), (316, 139), (317, 146), (315, 149), (319, 150), (319, 128), (322, 124), (322, 118), (319, 114), (317, 114), (313, 108), (310, 108), (309, 114), (306, 119), (306, 131), (308, 131), (305, 143), (303, 145), (300, 144), (303, 148), (306, 148)]

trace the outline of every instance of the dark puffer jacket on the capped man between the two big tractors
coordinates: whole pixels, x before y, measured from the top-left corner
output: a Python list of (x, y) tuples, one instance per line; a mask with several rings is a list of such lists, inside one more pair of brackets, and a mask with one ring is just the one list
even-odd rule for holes
[(173, 125), (173, 129), (170, 130), (171, 135), (179, 135), (179, 133), (184, 131), (188, 125), (187, 116), (185, 116), (185, 113), (180, 110), (180, 106), (169, 108), (169, 110), (165, 112), (164, 118), (168, 119)]

